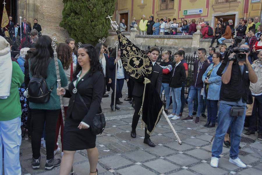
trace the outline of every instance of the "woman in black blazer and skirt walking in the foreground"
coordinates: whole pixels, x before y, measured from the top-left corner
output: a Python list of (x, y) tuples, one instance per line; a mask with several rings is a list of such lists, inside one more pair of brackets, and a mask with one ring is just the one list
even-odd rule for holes
[(81, 45), (77, 55), (76, 70), (68, 90), (57, 89), (57, 95), (70, 97), (63, 134), (64, 154), (59, 174), (68, 175), (76, 150), (86, 149), (90, 175), (96, 175), (98, 149), (95, 146), (96, 135), (91, 133), (89, 126), (95, 114), (102, 112), (100, 103), (105, 90), (105, 76), (93, 46)]

